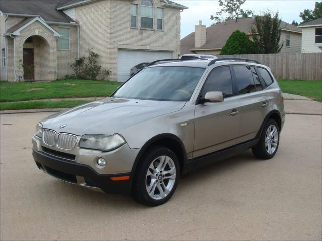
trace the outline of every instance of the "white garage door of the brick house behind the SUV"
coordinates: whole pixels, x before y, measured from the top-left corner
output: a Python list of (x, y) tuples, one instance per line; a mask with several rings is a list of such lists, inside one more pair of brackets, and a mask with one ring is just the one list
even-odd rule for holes
[(142, 51), (142, 50), (119, 50), (117, 62), (117, 76), (119, 82), (124, 82), (129, 78), (130, 70), (133, 66), (158, 59), (172, 59), (172, 52), (163, 51)]

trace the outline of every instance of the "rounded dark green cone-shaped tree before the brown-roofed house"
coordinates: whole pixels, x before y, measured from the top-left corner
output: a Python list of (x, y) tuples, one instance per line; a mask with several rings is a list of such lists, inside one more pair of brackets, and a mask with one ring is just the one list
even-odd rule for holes
[(220, 54), (256, 54), (257, 48), (247, 35), (239, 30), (233, 32), (227, 40)]

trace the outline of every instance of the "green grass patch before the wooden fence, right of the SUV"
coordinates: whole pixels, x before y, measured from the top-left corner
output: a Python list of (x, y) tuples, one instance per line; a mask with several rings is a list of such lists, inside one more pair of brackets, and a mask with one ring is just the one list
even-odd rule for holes
[(322, 102), (322, 80), (278, 80), (283, 93), (297, 94)]

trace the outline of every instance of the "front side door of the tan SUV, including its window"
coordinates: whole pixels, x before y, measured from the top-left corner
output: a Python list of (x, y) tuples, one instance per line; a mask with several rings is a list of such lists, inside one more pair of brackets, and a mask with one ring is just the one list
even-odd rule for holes
[(208, 75), (199, 94), (221, 91), (222, 103), (203, 103), (195, 106), (195, 142), (193, 157), (203, 156), (236, 144), (239, 132), (239, 101), (234, 96), (231, 69), (217, 67)]

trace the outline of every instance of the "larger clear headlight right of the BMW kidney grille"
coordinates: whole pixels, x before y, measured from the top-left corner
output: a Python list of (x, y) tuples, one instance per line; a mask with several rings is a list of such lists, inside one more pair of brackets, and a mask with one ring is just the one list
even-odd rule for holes
[(124, 143), (126, 143), (124, 138), (119, 134), (114, 134), (113, 136), (84, 135), (81, 139), (81, 144), (79, 144), (79, 147), (107, 152), (119, 148)]

